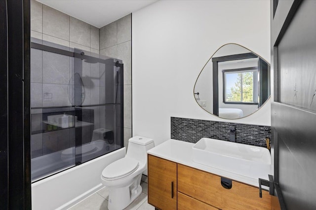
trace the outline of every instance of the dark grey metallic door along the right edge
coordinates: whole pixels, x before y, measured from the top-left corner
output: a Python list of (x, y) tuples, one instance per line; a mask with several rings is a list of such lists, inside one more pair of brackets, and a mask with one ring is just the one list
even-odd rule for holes
[(273, 0), (271, 13), (274, 178), (286, 209), (315, 210), (316, 1)]

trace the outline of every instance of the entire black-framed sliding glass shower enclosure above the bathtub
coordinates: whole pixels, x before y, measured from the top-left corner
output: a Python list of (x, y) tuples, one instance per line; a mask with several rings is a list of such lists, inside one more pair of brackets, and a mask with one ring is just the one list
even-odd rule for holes
[(32, 39), (31, 177), (123, 147), (121, 60)]

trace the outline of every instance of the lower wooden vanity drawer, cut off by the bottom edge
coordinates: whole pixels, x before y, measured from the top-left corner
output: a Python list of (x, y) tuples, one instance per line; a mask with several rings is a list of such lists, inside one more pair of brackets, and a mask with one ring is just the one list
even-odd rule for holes
[(208, 204), (178, 192), (178, 210), (219, 210)]

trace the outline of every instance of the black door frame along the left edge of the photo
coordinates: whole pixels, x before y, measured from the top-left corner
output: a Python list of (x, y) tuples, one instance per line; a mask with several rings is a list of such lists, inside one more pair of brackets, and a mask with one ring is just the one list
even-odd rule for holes
[(0, 0), (0, 209), (31, 209), (30, 0)]

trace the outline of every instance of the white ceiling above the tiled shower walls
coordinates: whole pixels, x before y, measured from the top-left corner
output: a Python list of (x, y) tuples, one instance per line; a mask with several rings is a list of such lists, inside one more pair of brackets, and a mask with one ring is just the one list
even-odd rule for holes
[(37, 0), (101, 28), (157, 0)]

